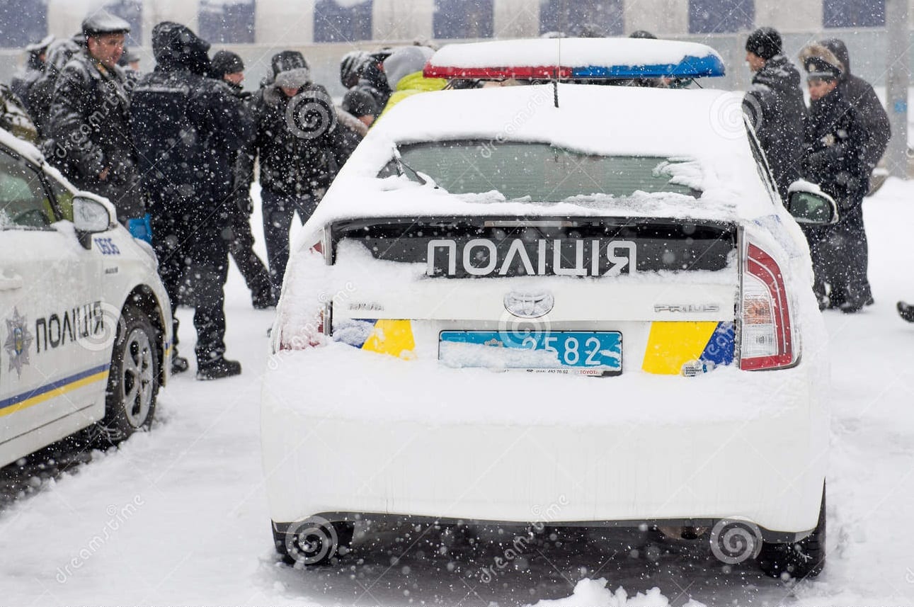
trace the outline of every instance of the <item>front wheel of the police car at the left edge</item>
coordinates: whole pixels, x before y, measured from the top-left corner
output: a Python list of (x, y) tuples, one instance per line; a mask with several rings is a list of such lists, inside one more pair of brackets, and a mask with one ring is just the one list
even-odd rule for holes
[(156, 335), (145, 314), (124, 307), (112, 349), (105, 417), (99, 424), (105, 442), (121, 442), (153, 422), (160, 364)]

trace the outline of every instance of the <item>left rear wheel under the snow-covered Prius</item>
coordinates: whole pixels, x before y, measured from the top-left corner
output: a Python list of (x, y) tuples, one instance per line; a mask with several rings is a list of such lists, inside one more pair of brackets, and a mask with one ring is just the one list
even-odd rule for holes
[(349, 552), (356, 532), (355, 523), (330, 522), (312, 516), (292, 524), (284, 533), (273, 528), (273, 543), (288, 565), (325, 565)]

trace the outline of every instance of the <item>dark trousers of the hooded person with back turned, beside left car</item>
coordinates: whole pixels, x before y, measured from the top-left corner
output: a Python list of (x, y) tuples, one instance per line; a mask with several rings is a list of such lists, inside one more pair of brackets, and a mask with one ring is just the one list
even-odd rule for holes
[[(194, 308), (197, 364), (225, 354), (225, 283), (228, 277), (228, 240), (218, 225), (195, 225), (187, 214), (156, 212), (153, 208), (153, 248), (159, 258), (159, 276), (175, 315), (178, 304)], [(175, 354), (177, 353), (177, 320)]]

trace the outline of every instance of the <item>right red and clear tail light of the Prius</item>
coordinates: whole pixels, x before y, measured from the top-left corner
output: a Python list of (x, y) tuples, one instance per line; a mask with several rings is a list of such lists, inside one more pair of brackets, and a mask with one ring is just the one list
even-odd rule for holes
[(739, 367), (790, 367), (795, 361), (791, 310), (778, 262), (749, 243), (742, 276)]

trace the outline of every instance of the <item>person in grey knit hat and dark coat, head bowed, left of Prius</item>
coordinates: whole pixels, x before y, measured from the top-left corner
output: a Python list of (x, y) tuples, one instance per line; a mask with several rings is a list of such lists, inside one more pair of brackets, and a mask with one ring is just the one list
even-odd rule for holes
[(311, 71), (291, 65), (283, 66), (252, 100), (263, 235), (275, 293), (289, 261), (292, 217), (298, 212), (302, 223), (311, 217), (359, 139), (339, 121), (333, 101), (324, 87), (312, 82)]

